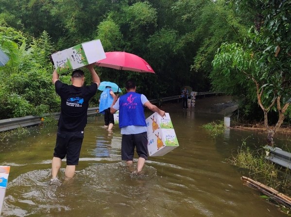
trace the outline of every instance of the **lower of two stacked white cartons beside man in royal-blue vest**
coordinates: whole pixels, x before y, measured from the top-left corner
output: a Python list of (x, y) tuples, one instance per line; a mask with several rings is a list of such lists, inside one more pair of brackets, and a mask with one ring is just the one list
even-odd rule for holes
[(179, 146), (174, 129), (157, 129), (148, 134), (148, 151), (150, 156), (163, 156)]

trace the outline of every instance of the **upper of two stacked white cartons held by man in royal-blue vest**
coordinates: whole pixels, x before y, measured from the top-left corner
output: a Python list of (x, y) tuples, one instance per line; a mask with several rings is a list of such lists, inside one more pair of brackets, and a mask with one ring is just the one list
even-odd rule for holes
[(146, 118), (148, 136), (153, 134), (157, 129), (173, 129), (173, 124), (169, 113), (165, 113), (164, 117), (161, 117), (158, 113), (154, 113), (150, 117)]

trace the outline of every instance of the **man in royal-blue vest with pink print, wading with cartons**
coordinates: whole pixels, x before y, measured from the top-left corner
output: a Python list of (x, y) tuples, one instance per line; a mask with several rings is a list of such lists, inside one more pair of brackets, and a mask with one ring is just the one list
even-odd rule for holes
[(128, 166), (133, 165), (134, 151), (138, 154), (137, 173), (140, 173), (148, 159), (148, 138), (144, 115), (144, 106), (164, 117), (165, 111), (153, 105), (145, 95), (136, 93), (136, 83), (128, 80), (125, 83), (126, 94), (118, 95), (111, 105), (111, 114), (119, 110), (119, 127), (122, 134), (121, 160)]

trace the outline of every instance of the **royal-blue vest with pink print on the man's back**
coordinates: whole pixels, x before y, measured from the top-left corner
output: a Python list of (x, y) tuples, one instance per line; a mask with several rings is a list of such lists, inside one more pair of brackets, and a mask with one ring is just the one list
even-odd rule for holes
[(119, 99), (119, 127), (146, 126), (141, 94), (129, 92)]

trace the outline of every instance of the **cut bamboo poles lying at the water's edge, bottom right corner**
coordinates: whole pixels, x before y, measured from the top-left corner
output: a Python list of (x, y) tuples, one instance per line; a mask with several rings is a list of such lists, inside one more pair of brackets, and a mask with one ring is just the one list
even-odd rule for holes
[(291, 198), (288, 197), (287, 195), (284, 195), (283, 193), (278, 192), (274, 188), (268, 187), (267, 185), (259, 183), (257, 181), (254, 181), (248, 177), (242, 176), (241, 179), (245, 180), (248, 184), (251, 184), (251, 185), (257, 187), (258, 190), (261, 190), (263, 193), (268, 194), (269, 196), (273, 197), (274, 199), (278, 199), (280, 202), (283, 201), (283, 203), (285, 203), (287, 206), (289, 206), (291, 208)]

